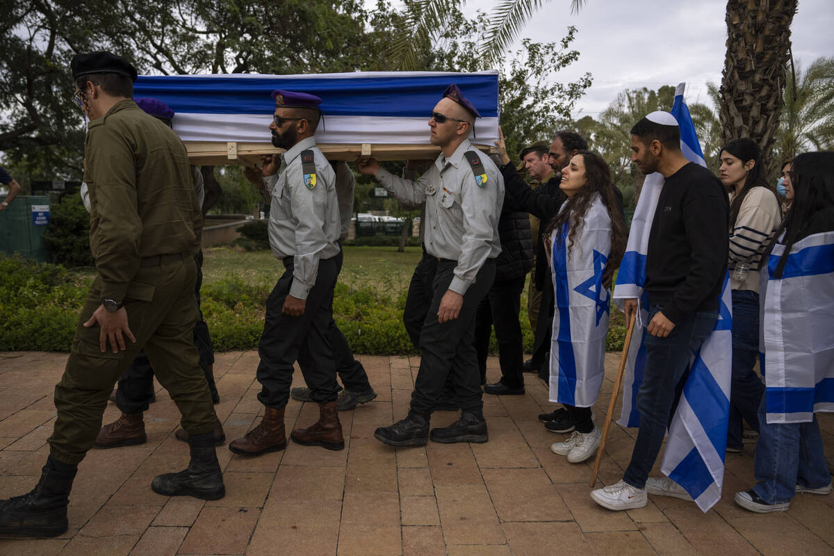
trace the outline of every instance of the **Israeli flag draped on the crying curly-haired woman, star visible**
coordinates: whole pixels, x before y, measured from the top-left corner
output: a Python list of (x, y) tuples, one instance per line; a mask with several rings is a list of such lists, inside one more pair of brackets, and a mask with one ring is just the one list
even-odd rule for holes
[(572, 243), (569, 231), (570, 225), (565, 223), (560, 234), (555, 230), (550, 234), (555, 294), (550, 401), (588, 408), (596, 402), (605, 378), (611, 301), (608, 289), (602, 286), (611, 251), (611, 219), (599, 193)]

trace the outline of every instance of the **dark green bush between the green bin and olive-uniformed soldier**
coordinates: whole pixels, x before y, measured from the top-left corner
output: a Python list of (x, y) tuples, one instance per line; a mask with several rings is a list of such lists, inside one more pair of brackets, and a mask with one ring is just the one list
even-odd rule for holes
[(49, 225), (43, 233), (53, 261), (68, 267), (93, 266), (90, 253), (90, 215), (84, 208), (80, 195), (64, 195), (61, 202), (53, 204)]

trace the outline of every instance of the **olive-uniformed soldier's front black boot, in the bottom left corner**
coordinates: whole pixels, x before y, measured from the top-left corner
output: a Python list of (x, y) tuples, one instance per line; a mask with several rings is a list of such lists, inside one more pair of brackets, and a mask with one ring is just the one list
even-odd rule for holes
[(77, 465), (49, 456), (32, 492), (0, 501), (0, 535), (57, 537), (67, 531), (67, 504)]

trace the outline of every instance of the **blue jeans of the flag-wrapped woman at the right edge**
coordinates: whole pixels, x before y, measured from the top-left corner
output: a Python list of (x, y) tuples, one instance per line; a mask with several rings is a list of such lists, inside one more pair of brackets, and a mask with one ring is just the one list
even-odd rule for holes
[(765, 398), (759, 405), (759, 439), (756, 442), (756, 491), (766, 503), (789, 502), (796, 485), (820, 488), (831, 483), (822, 453), (820, 425), (772, 423), (765, 418)]

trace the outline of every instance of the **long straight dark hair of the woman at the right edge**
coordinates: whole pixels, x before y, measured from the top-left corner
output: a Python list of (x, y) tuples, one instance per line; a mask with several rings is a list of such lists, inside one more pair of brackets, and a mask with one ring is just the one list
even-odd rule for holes
[(782, 231), (785, 232), (785, 252), (776, 265), (776, 278), (785, 270), (787, 256), (793, 244), (805, 237), (811, 217), (823, 208), (834, 207), (834, 152), (802, 153), (793, 159), (791, 168), (793, 203), (768, 246), (770, 253)]

